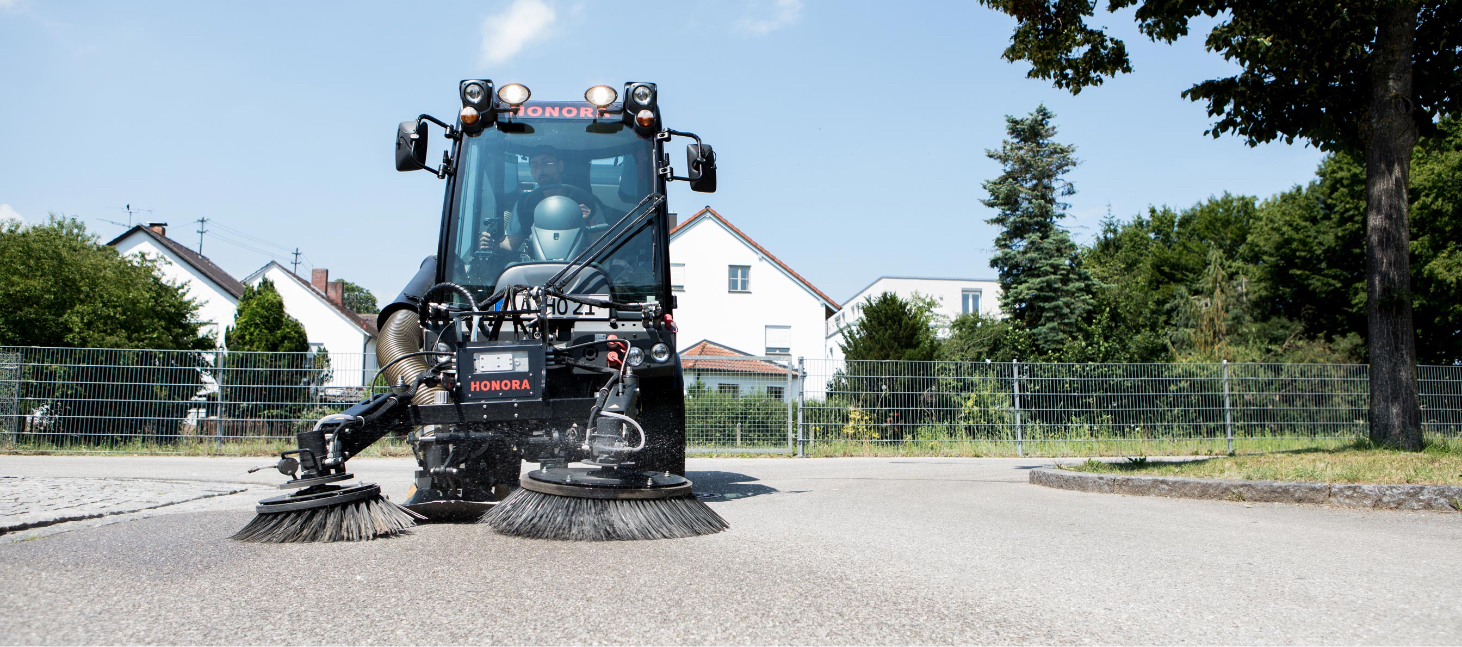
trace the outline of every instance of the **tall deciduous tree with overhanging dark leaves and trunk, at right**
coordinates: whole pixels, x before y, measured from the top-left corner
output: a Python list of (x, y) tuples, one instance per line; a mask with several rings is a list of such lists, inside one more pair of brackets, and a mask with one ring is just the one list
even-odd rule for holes
[[(1004, 58), (1076, 93), (1132, 72), (1126, 45), (1086, 23), (1095, 0), (981, 0), (1018, 20)], [(1449, 0), (1108, 0), (1173, 42), (1221, 16), (1206, 45), (1240, 66), (1183, 92), (1206, 101), (1215, 137), (1307, 140), (1366, 159), (1366, 299), (1370, 425), (1379, 444), (1421, 448), (1412, 326), (1411, 153), (1462, 107), (1462, 3)]]

